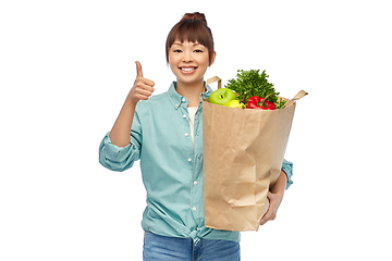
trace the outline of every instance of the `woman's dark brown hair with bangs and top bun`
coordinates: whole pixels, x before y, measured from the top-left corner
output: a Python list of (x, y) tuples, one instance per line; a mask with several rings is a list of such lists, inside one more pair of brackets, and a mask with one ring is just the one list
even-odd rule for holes
[(208, 49), (209, 62), (213, 57), (213, 38), (203, 13), (186, 13), (182, 20), (170, 30), (166, 44), (167, 62), (169, 63), (169, 49), (175, 40), (198, 42)]

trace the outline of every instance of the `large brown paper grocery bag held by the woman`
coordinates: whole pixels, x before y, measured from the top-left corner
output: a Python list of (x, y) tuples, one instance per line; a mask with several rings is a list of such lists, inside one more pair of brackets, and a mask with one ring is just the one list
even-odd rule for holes
[[(207, 84), (217, 79), (220, 88), (218, 77)], [(265, 111), (217, 105), (207, 99), (203, 101), (204, 214), (207, 227), (258, 229), (268, 210), (269, 187), (281, 172), (296, 105), (290, 103), (284, 109)]]

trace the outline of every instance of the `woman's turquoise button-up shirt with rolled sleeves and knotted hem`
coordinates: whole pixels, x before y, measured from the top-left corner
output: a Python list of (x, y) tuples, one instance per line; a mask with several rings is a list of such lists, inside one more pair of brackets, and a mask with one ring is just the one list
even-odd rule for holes
[[(174, 82), (167, 92), (139, 101), (124, 148), (112, 145), (109, 133), (99, 147), (99, 161), (112, 171), (125, 171), (140, 160), (147, 207), (145, 231), (171, 237), (226, 239), (240, 241), (238, 232), (208, 228), (203, 202), (203, 110), (201, 95), (194, 121), (194, 148), (188, 121), (187, 99), (180, 96)], [(206, 86), (205, 97), (212, 92)], [(282, 170), (292, 184), (292, 163)]]

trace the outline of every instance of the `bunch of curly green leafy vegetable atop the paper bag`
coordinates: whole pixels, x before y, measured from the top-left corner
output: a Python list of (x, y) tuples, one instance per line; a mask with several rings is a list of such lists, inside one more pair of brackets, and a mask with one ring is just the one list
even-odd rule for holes
[(267, 100), (273, 102), (275, 109), (281, 109), (285, 100), (279, 99), (279, 92), (273, 88), (273, 84), (268, 83), (269, 75), (266, 74), (266, 70), (260, 74), (260, 70), (244, 71), (238, 70), (236, 79), (229, 79), (229, 83), (224, 86), (225, 88), (232, 89), (240, 95), (240, 100), (246, 97), (258, 96), (265, 98), (270, 95)]

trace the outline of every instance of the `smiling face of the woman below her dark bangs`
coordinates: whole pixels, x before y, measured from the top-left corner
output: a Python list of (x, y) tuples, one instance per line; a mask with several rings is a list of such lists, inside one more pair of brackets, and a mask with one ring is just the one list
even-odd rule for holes
[(207, 67), (211, 65), (208, 49), (205, 46), (180, 40), (174, 41), (169, 49), (169, 64), (177, 82), (182, 84), (203, 83)]

